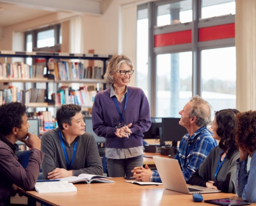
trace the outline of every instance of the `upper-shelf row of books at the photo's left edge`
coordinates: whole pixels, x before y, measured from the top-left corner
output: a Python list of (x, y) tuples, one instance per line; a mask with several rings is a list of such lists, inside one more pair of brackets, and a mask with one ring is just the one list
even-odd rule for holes
[(43, 65), (28, 65), (23, 62), (0, 63), (0, 79), (43, 78)]

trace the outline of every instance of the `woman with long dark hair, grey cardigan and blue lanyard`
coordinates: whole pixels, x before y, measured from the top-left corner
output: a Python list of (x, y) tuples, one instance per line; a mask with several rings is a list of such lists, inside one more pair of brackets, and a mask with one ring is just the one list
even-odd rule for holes
[(220, 142), (192, 175), (192, 185), (235, 194), (235, 161), (239, 157), (234, 139), (237, 113), (239, 111), (236, 109), (224, 109), (215, 113), (213, 138)]

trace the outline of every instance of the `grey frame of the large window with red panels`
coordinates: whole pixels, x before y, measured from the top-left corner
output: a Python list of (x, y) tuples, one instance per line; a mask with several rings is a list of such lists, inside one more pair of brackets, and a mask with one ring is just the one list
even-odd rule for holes
[[(199, 42), (199, 29), (211, 26), (225, 25), (235, 23), (234, 15), (222, 15), (213, 18), (201, 19), (201, 1), (192, 0), (192, 22), (183, 24), (170, 24), (165, 26), (156, 26), (157, 6), (171, 4), (180, 0), (162, 0), (158, 2), (147, 3), (148, 8), (148, 74), (150, 87), (148, 87), (148, 100), (151, 116), (156, 116), (157, 111), (157, 71), (156, 56), (159, 54), (173, 54), (179, 52), (192, 51), (192, 95), (202, 94), (202, 76), (201, 76), (201, 51), (204, 49), (223, 48), (235, 46), (235, 38), (218, 39), (212, 41)], [(137, 10), (142, 9), (138, 6)], [(144, 7), (145, 8), (145, 4)], [(154, 47), (154, 36), (163, 33), (171, 33), (191, 29), (191, 43), (177, 44), (171, 46)]]

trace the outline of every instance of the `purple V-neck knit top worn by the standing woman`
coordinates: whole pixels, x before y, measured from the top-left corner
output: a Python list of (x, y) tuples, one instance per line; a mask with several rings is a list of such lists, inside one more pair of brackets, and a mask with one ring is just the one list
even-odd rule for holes
[[(142, 146), (142, 138), (150, 125), (150, 111), (147, 97), (140, 88), (128, 87), (129, 95), (124, 113), (126, 125), (132, 123), (131, 135), (127, 138), (118, 138), (115, 135), (115, 126), (121, 119), (113, 98), (110, 97), (110, 88), (99, 92), (93, 104), (93, 130), (98, 136), (106, 138), (108, 148), (132, 148)], [(118, 102), (121, 113), (124, 111), (125, 99)]]

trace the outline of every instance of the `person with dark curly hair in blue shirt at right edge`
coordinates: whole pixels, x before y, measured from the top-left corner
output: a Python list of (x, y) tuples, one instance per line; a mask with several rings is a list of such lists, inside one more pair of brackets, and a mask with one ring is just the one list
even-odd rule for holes
[[(246, 201), (256, 202), (256, 111), (240, 113), (236, 118), (235, 140), (240, 151), (240, 158), (236, 161), (236, 193)], [(247, 171), (249, 155), (250, 173)]]

